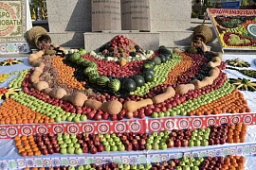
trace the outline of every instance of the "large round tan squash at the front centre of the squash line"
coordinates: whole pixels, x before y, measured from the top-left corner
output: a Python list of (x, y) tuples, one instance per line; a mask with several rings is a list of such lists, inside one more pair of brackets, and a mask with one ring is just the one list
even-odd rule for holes
[(101, 105), (101, 110), (109, 114), (119, 114), (122, 110), (122, 104), (118, 100), (108, 101)]

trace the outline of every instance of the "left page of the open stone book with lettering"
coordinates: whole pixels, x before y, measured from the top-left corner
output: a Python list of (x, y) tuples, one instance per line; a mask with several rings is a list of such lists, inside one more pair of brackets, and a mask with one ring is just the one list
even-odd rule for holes
[(92, 0), (92, 31), (121, 30), (120, 0)]

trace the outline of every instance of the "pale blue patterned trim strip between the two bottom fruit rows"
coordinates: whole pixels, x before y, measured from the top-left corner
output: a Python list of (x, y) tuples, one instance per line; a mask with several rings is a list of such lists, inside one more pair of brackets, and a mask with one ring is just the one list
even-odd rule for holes
[[(55, 166), (79, 166), (84, 164), (95, 163), (97, 165), (108, 164), (110, 162), (115, 162), (117, 164), (146, 164), (161, 161), (169, 161), (171, 159), (180, 159), (183, 157), (220, 157), (228, 155), (237, 156), (255, 156), (256, 154), (256, 144), (233, 144), (229, 146), (222, 145), (221, 147), (213, 148), (203, 148), (194, 149), (192, 151), (182, 151), (184, 149), (179, 149), (179, 151), (154, 153), (154, 151), (149, 152), (139, 152), (136, 155), (133, 152), (125, 152), (124, 154), (98, 154), (98, 155), (60, 155), (58, 156), (41, 156), (41, 157), (19, 157), (15, 159), (5, 159), (0, 161), (1, 170), (7, 169), (24, 169), (26, 167), (55, 167)], [(186, 150), (186, 149), (185, 149)], [(115, 155), (115, 156), (113, 156)], [(247, 158), (249, 159), (249, 158)]]

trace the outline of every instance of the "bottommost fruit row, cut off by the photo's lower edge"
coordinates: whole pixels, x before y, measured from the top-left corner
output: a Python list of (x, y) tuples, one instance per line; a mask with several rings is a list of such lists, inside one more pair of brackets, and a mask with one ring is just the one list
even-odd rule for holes
[(171, 159), (169, 161), (146, 163), (146, 164), (120, 164), (120, 163), (109, 163), (109, 164), (86, 164), (80, 166), (56, 166), (56, 167), (40, 167), (40, 168), (24, 168), (23, 170), (205, 170), (210, 169), (238, 169), (243, 170), (247, 159), (244, 156), (233, 156), (228, 157), (198, 157), (188, 158), (183, 157), (181, 159)]

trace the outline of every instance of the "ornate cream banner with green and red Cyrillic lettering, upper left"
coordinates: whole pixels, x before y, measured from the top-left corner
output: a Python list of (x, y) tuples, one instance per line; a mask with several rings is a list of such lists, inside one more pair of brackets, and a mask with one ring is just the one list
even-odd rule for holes
[(26, 1), (0, 2), (0, 42), (25, 41)]

